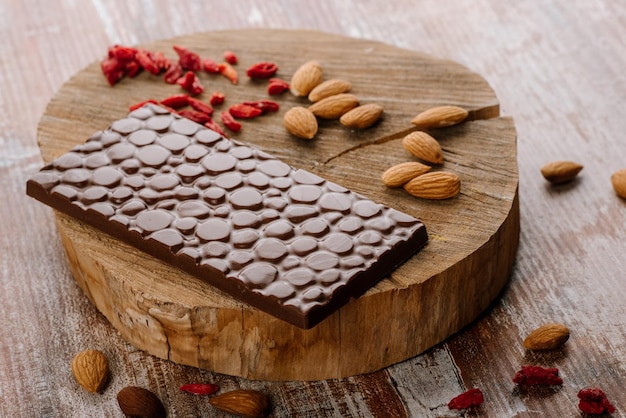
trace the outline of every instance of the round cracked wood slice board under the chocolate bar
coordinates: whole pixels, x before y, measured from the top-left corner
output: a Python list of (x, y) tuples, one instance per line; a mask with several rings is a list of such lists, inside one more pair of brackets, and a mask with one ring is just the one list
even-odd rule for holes
[[(377, 202), (420, 218), (427, 246), (365, 295), (310, 330), (238, 302), (68, 216), (57, 226), (74, 277), (87, 297), (134, 346), (180, 364), (263, 380), (317, 380), (372, 372), (413, 357), (473, 321), (505, 286), (519, 239), (518, 171), (513, 120), (499, 116), (488, 83), (449, 60), (386, 44), (315, 31), (237, 30), (199, 33), (143, 47), (176, 57), (183, 45), (203, 58), (239, 56), (238, 85), (200, 74), (208, 99), (224, 105), (268, 99), (266, 82), (245, 76), (258, 61), (279, 65), (289, 80), (305, 61), (318, 60), (325, 79), (343, 78), (361, 103), (379, 103), (383, 119), (354, 131), (323, 121), (315, 140), (290, 136), (282, 115), (304, 98), (275, 98), (277, 114), (243, 123), (230, 135)], [(104, 51), (103, 51), (104, 52)], [(94, 62), (65, 83), (42, 116), (38, 140), (46, 162), (125, 117), (128, 107), (180, 93), (162, 76), (142, 73), (110, 87)], [(455, 198), (429, 201), (386, 188), (381, 174), (416, 160), (401, 140), (411, 119), (437, 105), (470, 111), (461, 125), (430, 131), (447, 170), (461, 177)]]

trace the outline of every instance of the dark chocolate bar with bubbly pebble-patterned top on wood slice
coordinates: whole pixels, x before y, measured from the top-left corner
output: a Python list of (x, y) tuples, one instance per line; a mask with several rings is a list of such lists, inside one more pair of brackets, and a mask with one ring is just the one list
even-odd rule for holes
[(151, 104), (42, 168), (27, 194), (300, 328), (428, 240), (412, 216)]

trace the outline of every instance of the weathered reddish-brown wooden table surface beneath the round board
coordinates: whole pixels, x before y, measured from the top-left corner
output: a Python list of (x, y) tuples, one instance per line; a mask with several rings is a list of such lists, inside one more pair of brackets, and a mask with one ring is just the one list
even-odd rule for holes
[[(467, 329), (369, 375), (249, 381), (135, 349), (78, 288), (52, 211), (25, 195), (42, 164), (36, 132), (47, 102), (113, 43), (252, 27), (378, 40), (452, 59), (492, 85), (518, 130), (521, 240), (509, 286)], [(0, 417), (120, 417), (115, 395), (127, 385), (152, 390), (171, 417), (226, 416), (180, 394), (191, 381), (265, 391), (276, 417), (575, 417), (584, 387), (602, 388), (613, 416), (626, 416), (626, 201), (610, 183), (626, 168), (626, 3), (0, 0), (0, 35)], [(550, 187), (540, 168), (554, 160), (584, 169)], [(524, 337), (547, 322), (571, 329), (566, 347), (526, 352)], [(71, 376), (86, 348), (110, 359), (102, 394)], [(526, 364), (558, 367), (564, 384), (516, 387)], [(472, 387), (485, 394), (482, 407), (449, 411)]]

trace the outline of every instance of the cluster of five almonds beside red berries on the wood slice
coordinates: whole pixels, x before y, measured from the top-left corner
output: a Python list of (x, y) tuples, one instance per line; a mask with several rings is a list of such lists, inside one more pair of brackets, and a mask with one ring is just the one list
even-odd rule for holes
[(369, 103), (360, 105), (359, 99), (350, 94), (352, 83), (347, 80), (323, 81), (319, 62), (308, 61), (293, 74), (289, 83), (295, 96), (307, 97), (309, 107), (296, 106), (285, 113), (283, 123), (292, 135), (313, 139), (317, 134), (317, 119), (339, 119), (350, 129), (365, 129), (374, 125), (383, 114), (382, 106)]

